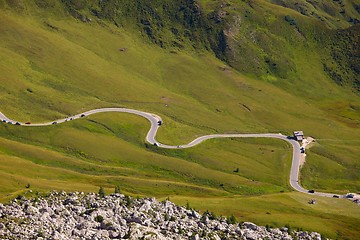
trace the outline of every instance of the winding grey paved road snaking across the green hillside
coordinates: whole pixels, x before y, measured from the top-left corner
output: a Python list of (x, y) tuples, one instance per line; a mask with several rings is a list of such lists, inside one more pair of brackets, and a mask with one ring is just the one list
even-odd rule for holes
[[(71, 116), (71, 117), (64, 118), (64, 119), (59, 119), (59, 120), (56, 120), (56, 121), (53, 121), (53, 122), (35, 123), (35, 124), (33, 124), (33, 123), (21, 123), (21, 122), (14, 121), (12, 119), (7, 118), (4, 114), (2, 114), (0, 112), (0, 121), (2, 121), (4, 123), (6, 122), (8, 124), (9, 123), (17, 124), (19, 126), (41, 127), (41, 126), (49, 126), (49, 125), (54, 125), (54, 124), (60, 124), (60, 123), (64, 123), (64, 122), (67, 122), (67, 121), (72, 121), (72, 120), (75, 120), (75, 119), (79, 119), (79, 118), (82, 118), (82, 117), (85, 117), (85, 116), (89, 116), (89, 115), (92, 115), (92, 114), (104, 113), (104, 112), (131, 113), (131, 114), (139, 115), (141, 117), (146, 118), (151, 123), (150, 130), (146, 135), (146, 141), (153, 144), (153, 145), (161, 147), (161, 148), (168, 148), (168, 149), (190, 148), (190, 147), (194, 147), (194, 146), (200, 144), (201, 142), (203, 142), (205, 140), (212, 139), (212, 138), (276, 138), (276, 139), (281, 139), (283, 141), (286, 141), (286, 142), (290, 143), (292, 145), (292, 148), (293, 148), (292, 164), (291, 164), (291, 170), (290, 170), (290, 185), (291, 185), (291, 187), (294, 188), (298, 192), (311, 194), (311, 195), (316, 195), (316, 196), (333, 197), (334, 195), (337, 195), (337, 194), (322, 193), (322, 192), (309, 193), (308, 190), (306, 190), (306, 189), (304, 189), (303, 187), (300, 186), (300, 184), (299, 184), (300, 144), (297, 141), (295, 141), (294, 139), (289, 138), (288, 136), (282, 135), (281, 133), (278, 133), (278, 134), (275, 134), (275, 133), (212, 134), (212, 135), (205, 135), (205, 136), (201, 136), (199, 138), (196, 138), (192, 142), (190, 142), (188, 144), (185, 144), (185, 145), (170, 146), (170, 145), (159, 143), (155, 139), (157, 130), (158, 130), (158, 128), (160, 127), (160, 125), (162, 123), (162, 119), (161, 119), (160, 116), (152, 114), (152, 113), (138, 111), (138, 110), (134, 110), (134, 109), (128, 109), (128, 108), (100, 108), (100, 109), (94, 109), (94, 110), (90, 110), (90, 111), (87, 111), (87, 112), (84, 112), (84, 113), (77, 114), (75, 116)], [(344, 197), (344, 196), (341, 196), (341, 195), (338, 195), (338, 196), (340, 198)]]

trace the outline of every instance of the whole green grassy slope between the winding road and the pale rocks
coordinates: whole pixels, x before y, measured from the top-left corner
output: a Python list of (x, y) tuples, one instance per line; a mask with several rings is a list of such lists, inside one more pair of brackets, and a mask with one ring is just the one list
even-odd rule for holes
[(1, 200), (30, 196), (27, 184), (34, 193), (97, 191), (99, 186), (110, 193), (120, 185), (123, 193), (170, 197), (201, 211), (234, 214), (239, 221), (289, 224), (332, 238), (357, 235), (355, 204), (316, 197), (313, 206), (307, 204), (309, 196), (289, 192), (290, 146), (285, 143), (229, 139), (164, 151), (144, 146), (147, 126), (128, 114), (100, 114), (46, 128), (0, 125)]

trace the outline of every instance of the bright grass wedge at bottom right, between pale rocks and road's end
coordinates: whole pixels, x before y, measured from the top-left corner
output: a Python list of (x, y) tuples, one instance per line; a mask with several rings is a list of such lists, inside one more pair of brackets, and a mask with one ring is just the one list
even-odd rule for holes
[[(171, 201), (195, 209), (206, 209), (217, 215), (234, 214), (238, 221), (253, 221), (269, 227), (290, 226), (291, 229), (319, 231), (332, 239), (353, 239), (359, 233), (359, 208), (348, 200), (309, 197), (286, 193), (258, 197), (196, 198), (170, 197)], [(221, 211), (219, 205), (222, 206)]]

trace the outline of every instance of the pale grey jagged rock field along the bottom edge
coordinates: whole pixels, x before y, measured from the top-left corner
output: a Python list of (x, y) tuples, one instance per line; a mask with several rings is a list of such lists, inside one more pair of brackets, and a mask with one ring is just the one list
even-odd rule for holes
[(228, 224), (154, 198), (51, 192), (0, 204), (0, 239), (321, 239), (318, 233)]

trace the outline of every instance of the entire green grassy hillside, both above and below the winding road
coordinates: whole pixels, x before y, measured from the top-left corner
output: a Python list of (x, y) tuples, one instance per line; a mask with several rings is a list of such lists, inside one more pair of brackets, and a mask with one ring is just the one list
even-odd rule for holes
[[(302, 183), (359, 192), (360, 99), (351, 87), (358, 75), (346, 70), (356, 70), (346, 54), (357, 45), (341, 55), (347, 38), (331, 37), (356, 37), (357, 26), (295, 10), (260, 0), (0, 0), (0, 111), (41, 122), (96, 107), (136, 108), (163, 117), (158, 140), (169, 144), (301, 129), (318, 139)], [(344, 84), (324, 63), (347, 76)], [(356, 236), (357, 206), (333, 199), (309, 206), (307, 195), (292, 192), (287, 144), (223, 139), (167, 151), (145, 145), (148, 127), (127, 114), (44, 128), (0, 124), (0, 199), (24, 194), (28, 183), (34, 192), (110, 192), (119, 184), (125, 193), (188, 200), (202, 211), (228, 215), (231, 206), (241, 221)]]

